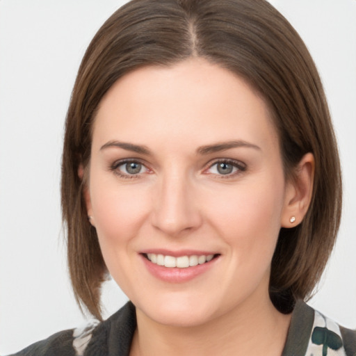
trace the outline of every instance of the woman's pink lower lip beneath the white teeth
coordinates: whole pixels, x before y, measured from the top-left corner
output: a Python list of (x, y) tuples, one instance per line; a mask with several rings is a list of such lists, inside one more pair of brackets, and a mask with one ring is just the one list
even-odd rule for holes
[(206, 273), (218, 260), (218, 257), (213, 258), (209, 262), (204, 264), (198, 264), (197, 266), (187, 267), (187, 268), (177, 268), (177, 267), (165, 267), (159, 266), (158, 264), (152, 264), (145, 256), (141, 254), (143, 263), (145, 264), (147, 270), (154, 275), (154, 277), (164, 282), (170, 283), (184, 283), (193, 280), (195, 277)]

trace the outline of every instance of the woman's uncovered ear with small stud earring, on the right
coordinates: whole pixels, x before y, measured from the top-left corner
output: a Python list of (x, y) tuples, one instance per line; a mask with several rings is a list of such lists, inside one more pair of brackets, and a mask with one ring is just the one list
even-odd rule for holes
[(286, 182), (282, 227), (300, 224), (312, 200), (315, 161), (312, 153), (302, 157), (294, 172), (294, 177)]

